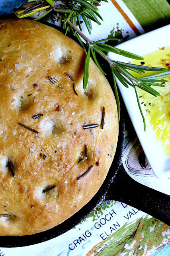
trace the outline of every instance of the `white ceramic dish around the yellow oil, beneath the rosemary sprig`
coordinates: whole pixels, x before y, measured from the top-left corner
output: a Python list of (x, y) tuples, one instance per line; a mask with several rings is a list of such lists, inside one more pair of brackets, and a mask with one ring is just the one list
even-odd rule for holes
[[(146, 54), (154, 52), (163, 46), (170, 46), (170, 25), (158, 28), (152, 32), (143, 34), (127, 42), (119, 44), (117, 48), (145, 56)], [(129, 60), (132, 61), (130, 58), (113, 54), (111, 52), (108, 54), (108, 56), (112, 60), (123, 62), (128, 62)], [(123, 86), (123, 84), (121, 84), (121, 82), (119, 82), (119, 80), (117, 80), (117, 84), (139, 141), (141, 142), (141, 146), (143, 147), (154, 174), (157, 178), (170, 177), (170, 157), (168, 157), (164, 152), (162, 144), (156, 140), (147, 118), (145, 118), (147, 130), (146, 132), (144, 131), (143, 119), (137, 105), (135, 90), (131, 86), (126, 88)], [(145, 114), (145, 111), (143, 111), (143, 113)]]

